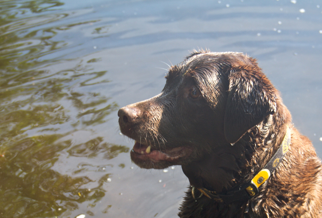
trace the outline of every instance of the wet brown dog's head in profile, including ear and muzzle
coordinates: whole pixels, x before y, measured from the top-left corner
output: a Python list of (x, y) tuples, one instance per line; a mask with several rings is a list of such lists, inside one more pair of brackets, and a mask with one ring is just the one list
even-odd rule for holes
[(273, 114), (275, 93), (254, 59), (193, 52), (170, 68), (159, 95), (121, 108), (119, 126), (135, 140), (131, 159), (139, 167), (188, 165)]

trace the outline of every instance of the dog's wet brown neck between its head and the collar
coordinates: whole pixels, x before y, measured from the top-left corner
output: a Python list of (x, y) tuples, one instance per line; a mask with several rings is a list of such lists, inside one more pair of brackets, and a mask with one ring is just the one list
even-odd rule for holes
[(235, 186), (251, 181), (269, 162), (283, 141), (287, 123), (290, 122), (286, 107), (285, 111), (284, 120), (277, 120), (281, 116), (269, 115), (235, 145), (231, 146), (226, 142), (215, 146), (212, 153), (205, 154), (203, 159), (182, 166), (190, 185), (225, 193)]

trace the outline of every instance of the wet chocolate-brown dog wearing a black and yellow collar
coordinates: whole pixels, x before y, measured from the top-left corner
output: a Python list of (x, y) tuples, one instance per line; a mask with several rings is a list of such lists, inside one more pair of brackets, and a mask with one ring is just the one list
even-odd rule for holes
[(182, 166), (180, 217), (322, 216), (321, 161), (255, 59), (195, 51), (166, 79), (118, 116), (139, 167)]

